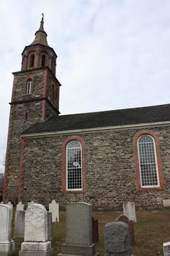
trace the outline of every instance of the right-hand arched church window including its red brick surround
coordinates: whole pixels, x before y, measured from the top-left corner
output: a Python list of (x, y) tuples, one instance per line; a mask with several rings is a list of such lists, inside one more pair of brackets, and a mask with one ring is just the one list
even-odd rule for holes
[(163, 190), (159, 139), (152, 130), (140, 130), (133, 138), (137, 190)]

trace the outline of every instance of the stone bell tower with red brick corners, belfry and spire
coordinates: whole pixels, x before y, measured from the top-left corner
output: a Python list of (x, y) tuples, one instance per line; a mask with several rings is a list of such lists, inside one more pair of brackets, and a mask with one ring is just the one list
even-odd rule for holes
[(9, 116), (3, 200), (17, 200), (22, 131), (37, 121), (58, 115), (60, 82), (55, 77), (57, 55), (48, 45), (44, 15), (34, 41), (22, 52), (21, 71), (14, 72)]

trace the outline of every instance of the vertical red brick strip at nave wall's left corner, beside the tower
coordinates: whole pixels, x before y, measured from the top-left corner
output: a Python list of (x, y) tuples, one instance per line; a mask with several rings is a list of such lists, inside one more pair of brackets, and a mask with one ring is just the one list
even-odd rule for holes
[(23, 191), (23, 188), (24, 188), (24, 170), (25, 170), (24, 149), (25, 149), (24, 138), (21, 138), (21, 155), (20, 155), (20, 163), (19, 163), (18, 202), (22, 201), (22, 191)]

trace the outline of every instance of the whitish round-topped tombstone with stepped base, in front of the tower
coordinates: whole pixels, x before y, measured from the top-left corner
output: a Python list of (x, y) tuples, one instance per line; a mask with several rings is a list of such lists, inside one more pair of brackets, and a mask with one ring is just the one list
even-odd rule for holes
[(47, 210), (41, 204), (31, 204), (25, 211), (24, 242), (19, 256), (52, 256), (48, 241)]

